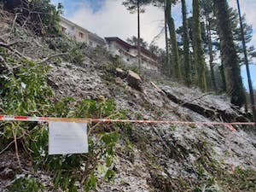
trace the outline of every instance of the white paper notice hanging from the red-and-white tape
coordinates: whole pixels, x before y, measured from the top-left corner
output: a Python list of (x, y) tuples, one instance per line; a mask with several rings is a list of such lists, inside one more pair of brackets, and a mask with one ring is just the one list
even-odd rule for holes
[(86, 123), (49, 122), (49, 154), (88, 153)]

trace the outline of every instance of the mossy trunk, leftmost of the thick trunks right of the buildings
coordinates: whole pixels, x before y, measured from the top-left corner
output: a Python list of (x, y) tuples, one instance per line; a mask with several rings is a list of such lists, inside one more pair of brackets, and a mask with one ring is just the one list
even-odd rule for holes
[(172, 18), (172, 0), (166, 1), (166, 17), (167, 17), (167, 24), (169, 26), (171, 44), (172, 44), (172, 58), (174, 61), (174, 75), (177, 79), (181, 79), (181, 66), (179, 61), (178, 49), (177, 49), (177, 38), (176, 38), (176, 31), (174, 20)]

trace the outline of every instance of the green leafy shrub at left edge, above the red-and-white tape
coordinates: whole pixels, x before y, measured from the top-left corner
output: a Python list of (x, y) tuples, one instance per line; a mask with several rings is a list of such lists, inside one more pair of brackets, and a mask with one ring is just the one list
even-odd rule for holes
[(24, 66), (17, 68), (15, 74), (2, 74), (1, 113), (8, 115), (44, 116), (48, 112), (50, 98), (54, 92), (47, 84), (49, 67), (32, 61), (20, 60)]

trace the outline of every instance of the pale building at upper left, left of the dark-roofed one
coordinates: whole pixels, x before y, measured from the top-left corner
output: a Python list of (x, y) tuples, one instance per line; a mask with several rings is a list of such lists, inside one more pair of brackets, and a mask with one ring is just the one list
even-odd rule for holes
[(106, 46), (103, 38), (100, 38), (95, 33), (89, 32), (81, 26), (73, 23), (70, 20), (61, 17), (61, 32), (66, 33), (68, 36), (75, 38), (79, 42), (84, 42), (91, 47)]

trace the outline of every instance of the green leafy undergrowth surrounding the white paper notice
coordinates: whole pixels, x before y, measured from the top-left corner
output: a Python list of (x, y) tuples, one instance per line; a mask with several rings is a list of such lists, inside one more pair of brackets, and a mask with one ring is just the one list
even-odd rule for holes
[[(7, 115), (51, 116), (70, 118), (120, 118), (125, 112), (117, 111), (113, 100), (98, 101), (73, 98), (55, 101), (54, 91), (47, 84), (47, 65), (33, 61), (15, 59), (1, 49), (3, 59), (13, 66), (13, 72), (4, 68), (1, 74), (0, 113)], [(89, 125), (89, 153), (48, 155), (48, 127), (45, 123), (0, 122), (0, 150), (6, 150), (9, 143), (15, 145), (20, 163), (18, 147), (32, 160), (33, 171), (20, 169), (8, 186), (10, 191), (40, 191), (45, 189), (33, 173), (45, 171), (52, 177), (54, 189), (84, 191), (96, 188), (97, 178), (107, 181), (114, 178), (114, 147), (119, 139), (119, 127), (128, 125)]]

